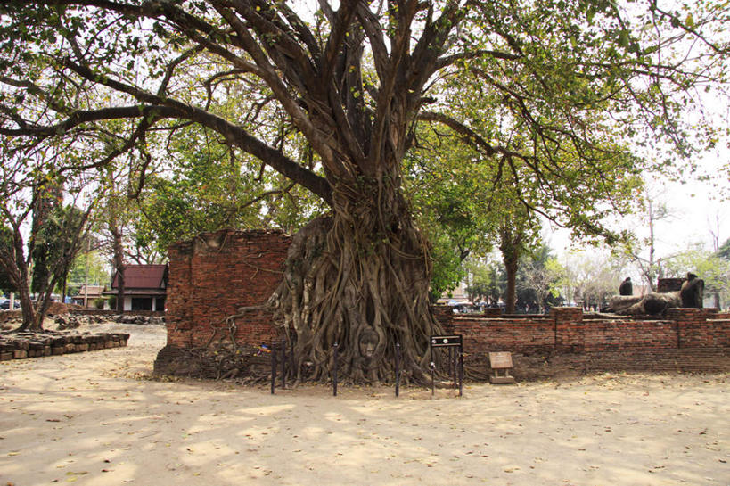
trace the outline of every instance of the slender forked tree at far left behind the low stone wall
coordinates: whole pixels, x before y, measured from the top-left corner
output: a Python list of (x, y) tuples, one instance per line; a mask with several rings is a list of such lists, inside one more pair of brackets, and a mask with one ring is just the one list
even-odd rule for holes
[[(84, 193), (85, 179), (71, 180), (55, 170), (66, 153), (45, 158), (37, 153), (32, 164), (8, 157), (7, 152), (3, 155), (0, 220), (4, 224), (4, 244), (0, 244), (0, 268), (19, 294), (23, 317), (19, 329), (39, 330), (53, 291), (65, 280), (84, 241), (94, 200)], [(51, 197), (53, 202), (44, 201)], [(64, 199), (69, 203), (64, 204)], [(82, 201), (86, 206), (80, 209)], [(40, 268), (33, 271), (36, 260)], [(31, 288), (35, 300), (31, 299)]]

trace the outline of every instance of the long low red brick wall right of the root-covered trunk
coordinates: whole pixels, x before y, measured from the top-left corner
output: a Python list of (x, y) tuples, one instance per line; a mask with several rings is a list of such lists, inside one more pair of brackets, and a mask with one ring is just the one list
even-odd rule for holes
[(541, 378), (592, 371), (730, 371), (730, 319), (717, 309), (670, 309), (663, 319), (585, 318), (578, 308), (545, 317), (459, 317), (438, 309), (463, 334), (472, 375), (488, 375), (489, 351), (511, 351), (513, 374)]

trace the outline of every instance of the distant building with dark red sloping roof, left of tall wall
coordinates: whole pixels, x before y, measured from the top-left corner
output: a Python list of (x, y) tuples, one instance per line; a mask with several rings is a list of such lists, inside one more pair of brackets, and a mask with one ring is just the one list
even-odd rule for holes
[[(127, 265), (124, 268), (124, 310), (165, 310), (168, 290), (167, 265)], [(119, 292), (119, 272), (114, 273), (111, 290)]]

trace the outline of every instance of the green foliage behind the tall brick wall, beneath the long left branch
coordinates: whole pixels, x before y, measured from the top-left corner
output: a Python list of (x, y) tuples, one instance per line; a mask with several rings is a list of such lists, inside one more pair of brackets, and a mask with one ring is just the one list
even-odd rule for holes
[(323, 212), (301, 187), (221, 144), (210, 130), (179, 130), (167, 154), (165, 167), (148, 177), (136, 201), (136, 248), (164, 255), (172, 243), (226, 227), (294, 233)]

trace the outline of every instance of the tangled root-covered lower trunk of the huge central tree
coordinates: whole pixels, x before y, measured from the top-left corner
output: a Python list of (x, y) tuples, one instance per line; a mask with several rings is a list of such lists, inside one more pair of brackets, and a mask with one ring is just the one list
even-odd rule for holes
[(431, 316), (431, 262), (406, 202), (392, 184), (340, 185), (332, 216), (295, 235), (271, 303), (293, 330), (296, 376), (327, 381), (338, 345), (340, 376), (389, 382), (400, 344), (403, 377), (424, 383)]

